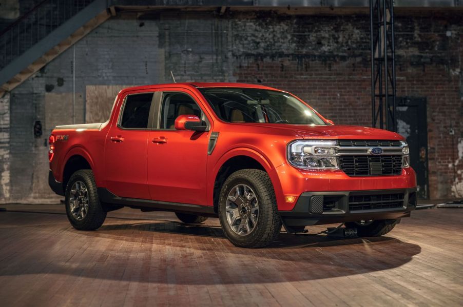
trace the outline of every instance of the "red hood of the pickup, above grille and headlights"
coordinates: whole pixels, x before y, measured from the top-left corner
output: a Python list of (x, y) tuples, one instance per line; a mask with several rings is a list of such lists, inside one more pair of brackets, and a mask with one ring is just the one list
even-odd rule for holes
[[(333, 138), (333, 139), (374, 139), (374, 140), (404, 140), (395, 132), (388, 130), (361, 127), (361, 126), (309, 126), (309, 125), (285, 125), (285, 124), (245, 124), (273, 129), (286, 130), (296, 133), (304, 139)], [(289, 131), (288, 131), (289, 130)]]

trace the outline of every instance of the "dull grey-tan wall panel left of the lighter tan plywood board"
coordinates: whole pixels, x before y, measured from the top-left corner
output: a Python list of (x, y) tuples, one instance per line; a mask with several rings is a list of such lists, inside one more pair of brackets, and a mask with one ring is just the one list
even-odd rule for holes
[[(52, 130), (58, 125), (71, 125), (72, 93), (45, 93), (45, 128)], [(84, 122), (84, 98), (82, 93), (75, 93), (75, 124)]]

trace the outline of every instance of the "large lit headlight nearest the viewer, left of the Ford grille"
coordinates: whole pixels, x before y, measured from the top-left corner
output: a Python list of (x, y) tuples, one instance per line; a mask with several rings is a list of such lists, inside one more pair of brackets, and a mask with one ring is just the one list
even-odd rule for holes
[(292, 166), (302, 169), (339, 169), (334, 154), (336, 141), (297, 140), (288, 144), (287, 159)]

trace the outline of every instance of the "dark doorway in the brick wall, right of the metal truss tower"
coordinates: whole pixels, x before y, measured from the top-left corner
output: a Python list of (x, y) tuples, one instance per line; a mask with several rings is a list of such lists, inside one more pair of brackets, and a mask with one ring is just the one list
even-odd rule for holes
[(426, 98), (397, 97), (397, 132), (407, 138), (410, 166), (416, 172), (418, 197), (429, 198)]

